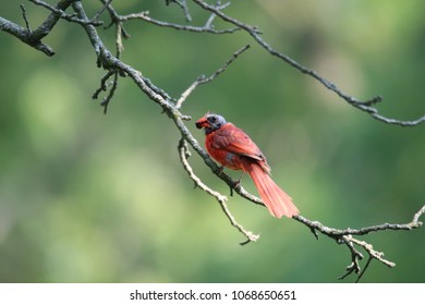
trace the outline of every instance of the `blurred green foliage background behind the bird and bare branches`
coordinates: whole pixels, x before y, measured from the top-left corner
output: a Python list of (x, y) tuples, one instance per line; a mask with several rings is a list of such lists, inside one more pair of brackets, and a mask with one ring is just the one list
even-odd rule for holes
[[(98, 1), (85, 2), (90, 15), (99, 9)], [(113, 4), (121, 14), (149, 10), (185, 24), (182, 11), (165, 2)], [(382, 114), (425, 113), (424, 1), (232, 2), (226, 13), (259, 26), (274, 48), (345, 93), (382, 95)], [(47, 11), (24, 3), (38, 26)], [(195, 25), (208, 19), (192, 3), (190, 10)], [(0, 15), (24, 25), (17, 2), (2, 1)], [(132, 37), (122, 60), (173, 97), (252, 45), (198, 87), (183, 112), (197, 119), (214, 111), (244, 129), (303, 216), (361, 228), (409, 222), (424, 205), (424, 125), (373, 120), (242, 32), (193, 34), (142, 21), (125, 27)], [(114, 29), (98, 30), (113, 50)], [(234, 196), (234, 217), (262, 234), (240, 246), (243, 236), (215, 199), (193, 190), (177, 154), (180, 135), (157, 105), (129, 78), (120, 80), (107, 115), (90, 99), (105, 72), (80, 25), (54, 27), (45, 39), (57, 51), (52, 58), (5, 33), (0, 39), (1, 282), (335, 282), (344, 272), (347, 247), (316, 241), (298, 222)], [(189, 126), (203, 142), (194, 121)], [(191, 162), (229, 194), (198, 157)], [(255, 193), (248, 179), (243, 184)], [(424, 282), (424, 236), (423, 229), (366, 236), (397, 267), (373, 261), (363, 281)]]

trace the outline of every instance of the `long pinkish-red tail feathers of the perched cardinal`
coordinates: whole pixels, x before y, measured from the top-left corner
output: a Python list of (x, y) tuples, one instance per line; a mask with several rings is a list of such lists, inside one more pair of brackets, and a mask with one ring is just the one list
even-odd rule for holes
[(292, 198), (272, 181), (268, 172), (258, 163), (245, 162), (244, 170), (251, 175), (259, 196), (272, 216), (292, 218), (299, 215), (299, 209), (292, 203)]

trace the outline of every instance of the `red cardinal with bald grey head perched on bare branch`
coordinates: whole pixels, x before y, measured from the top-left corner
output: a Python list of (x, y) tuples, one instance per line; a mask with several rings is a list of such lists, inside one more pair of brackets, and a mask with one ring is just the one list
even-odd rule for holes
[(205, 129), (205, 146), (209, 155), (222, 166), (248, 173), (264, 204), (275, 217), (292, 218), (299, 210), (291, 197), (270, 178), (270, 167), (255, 143), (232, 123), (218, 114), (207, 113), (196, 121)]

